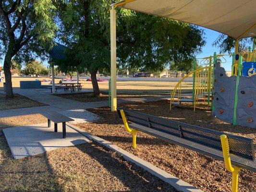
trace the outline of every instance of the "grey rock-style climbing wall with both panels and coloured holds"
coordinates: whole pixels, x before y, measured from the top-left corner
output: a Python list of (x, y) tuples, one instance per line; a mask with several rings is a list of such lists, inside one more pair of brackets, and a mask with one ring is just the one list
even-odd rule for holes
[(228, 77), (220, 61), (216, 60), (214, 78), (212, 115), (229, 123), (256, 128), (256, 75), (240, 76), (238, 79), (236, 76)]

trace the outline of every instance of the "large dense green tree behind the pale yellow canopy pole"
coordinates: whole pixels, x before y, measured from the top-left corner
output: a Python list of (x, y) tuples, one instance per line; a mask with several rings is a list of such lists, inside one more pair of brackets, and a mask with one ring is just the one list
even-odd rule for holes
[[(97, 72), (110, 70), (110, 4), (111, 0), (60, 4), (61, 40), (69, 47), (69, 59), (60, 65), (89, 71), (95, 96), (100, 95)], [(126, 69), (161, 71), (172, 60), (193, 58), (205, 44), (203, 31), (190, 24), (124, 9), (117, 9), (117, 16), (117, 61)]]

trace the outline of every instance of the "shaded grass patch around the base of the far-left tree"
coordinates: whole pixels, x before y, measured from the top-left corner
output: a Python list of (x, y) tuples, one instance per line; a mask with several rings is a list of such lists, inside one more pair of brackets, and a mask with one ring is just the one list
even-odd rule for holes
[(11, 99), (6, 99), (5, 94), (0, 94), (0, 110), (47, 106), (19, 94), (14, 94), (14, 96)]

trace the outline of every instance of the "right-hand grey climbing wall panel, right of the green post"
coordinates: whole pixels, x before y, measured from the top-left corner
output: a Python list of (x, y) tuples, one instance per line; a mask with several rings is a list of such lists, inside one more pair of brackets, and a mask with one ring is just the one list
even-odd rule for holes
[(236, 124), (256, 128), (256, 75), (240, 77)]

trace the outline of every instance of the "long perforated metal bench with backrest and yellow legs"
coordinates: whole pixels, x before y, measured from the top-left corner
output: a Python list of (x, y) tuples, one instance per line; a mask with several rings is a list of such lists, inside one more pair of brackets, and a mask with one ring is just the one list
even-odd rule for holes
[(232, 192), (237, 192), (238, 172), (241, 168), (256, 172), (252, 139), (125, 108), (117, 108), (117, 111), (126, 130), (133, 135), (134, 148), (136, 133), (140, 131), (224, 161), (226, 168), (232, 172)]

